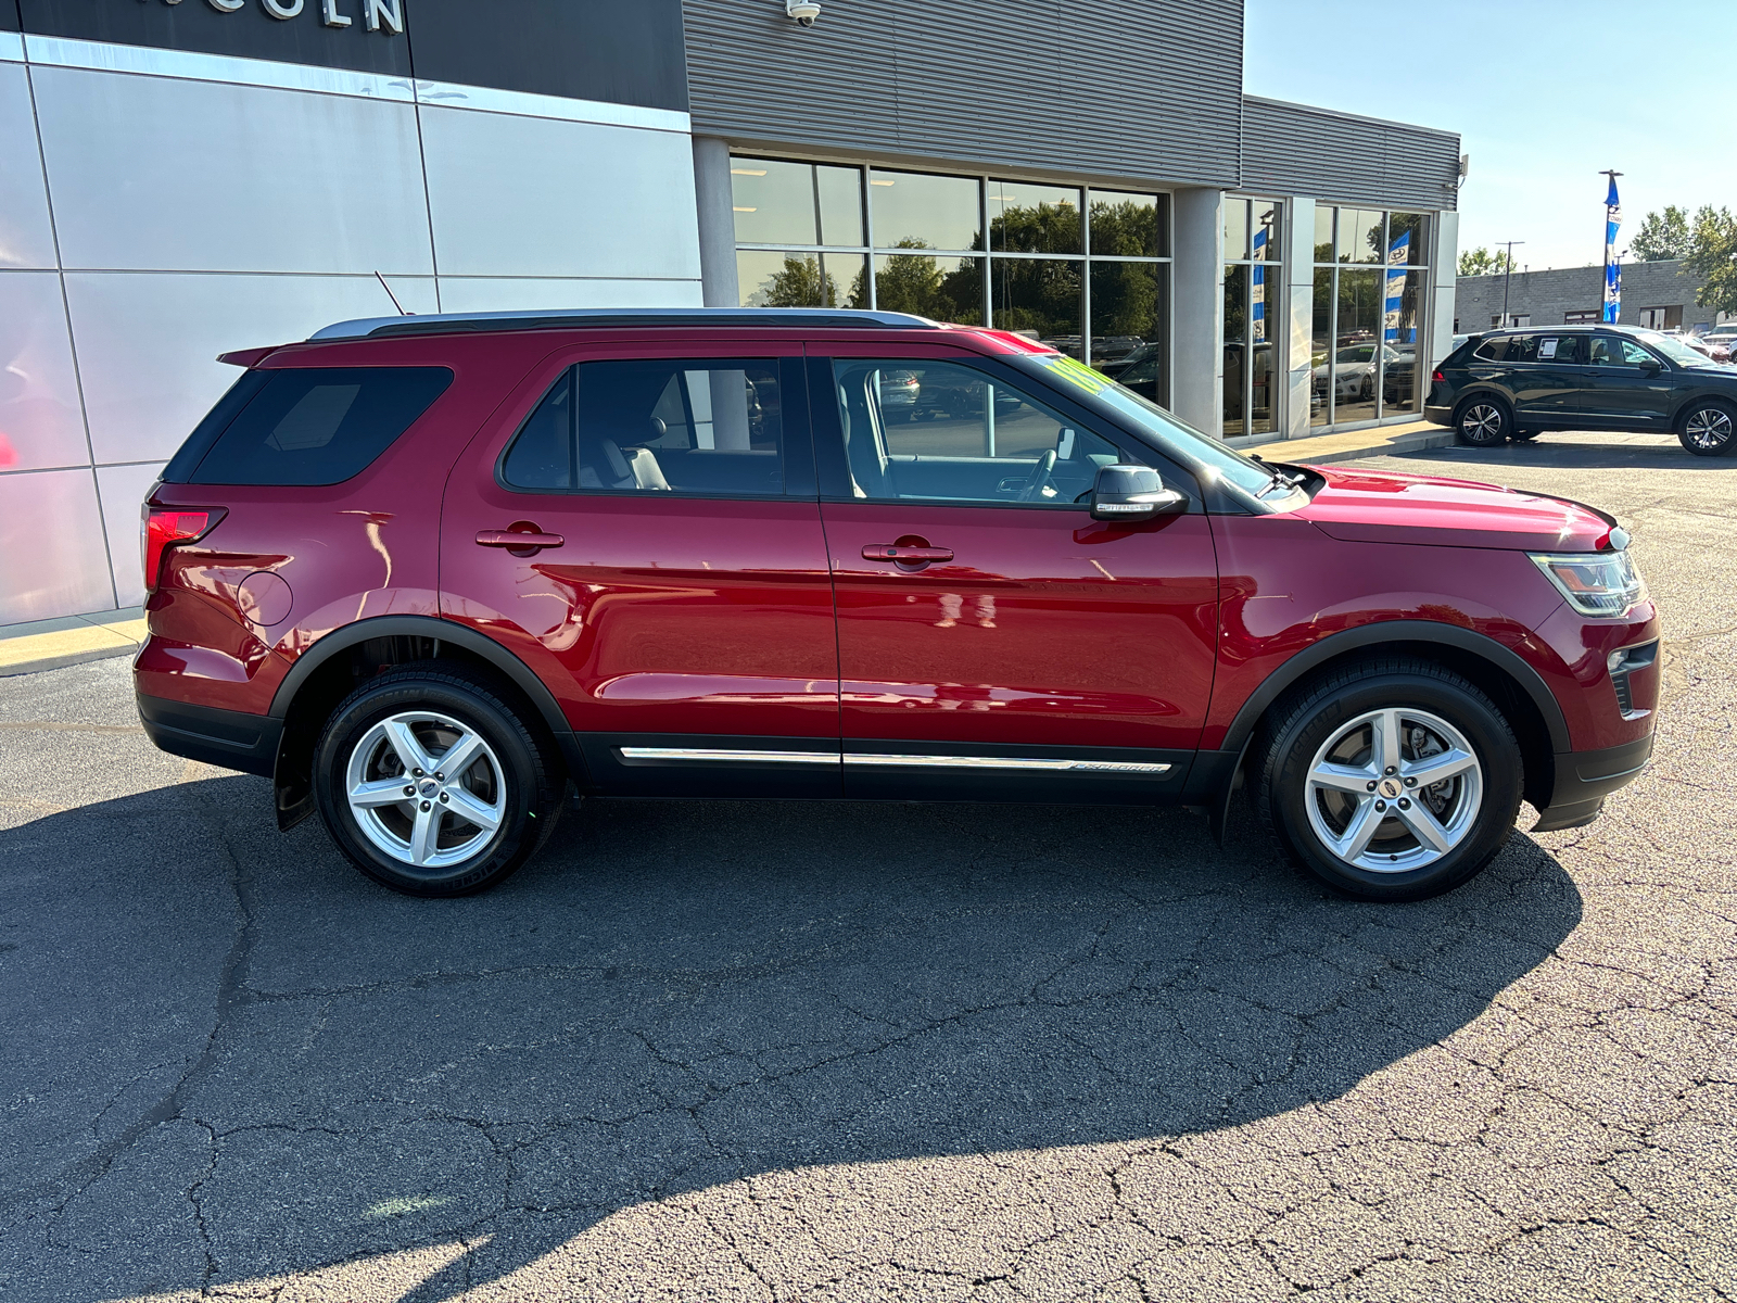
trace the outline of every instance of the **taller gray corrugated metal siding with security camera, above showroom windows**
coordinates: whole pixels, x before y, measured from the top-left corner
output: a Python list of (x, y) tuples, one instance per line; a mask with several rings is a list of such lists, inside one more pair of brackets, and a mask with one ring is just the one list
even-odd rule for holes
[(700, 134), (1237, 184), (1240, 0), (684, 0)]

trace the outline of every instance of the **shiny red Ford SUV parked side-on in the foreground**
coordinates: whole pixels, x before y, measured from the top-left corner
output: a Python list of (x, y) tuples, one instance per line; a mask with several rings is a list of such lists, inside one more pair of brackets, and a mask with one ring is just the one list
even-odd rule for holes
[(401, 891), (499, 883), (575, 790), (1221, 834), (1247, 785), (1299, 865), (1403, 900), (1652, 747), (1610, 516), (1265, 464), (1018, 335), (406, 316), (224, 360), (144, 506), (139, 714)]

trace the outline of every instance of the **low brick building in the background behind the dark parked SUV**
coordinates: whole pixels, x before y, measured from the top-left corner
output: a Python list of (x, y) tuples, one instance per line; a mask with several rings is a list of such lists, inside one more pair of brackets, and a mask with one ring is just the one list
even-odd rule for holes
[[(1709, 330), (1721, 316), (1695, 306), (1702, 283), (1680, 274), (1683, 264), (1622, 264), (1622, 325), (1657, 330)], [(1504, 276), (1461, 276), (1454, 281), (1454, 330), (1470, 334), (1501, 325)], [(1596, 321), (1603, 297), (1603, 268), (1556, 268), (1555, 271), (1516, 271), (1508, 287), (1511, 325), (1563, 325)], [(1734, 320), (1730, 313), (1723, 320)]]

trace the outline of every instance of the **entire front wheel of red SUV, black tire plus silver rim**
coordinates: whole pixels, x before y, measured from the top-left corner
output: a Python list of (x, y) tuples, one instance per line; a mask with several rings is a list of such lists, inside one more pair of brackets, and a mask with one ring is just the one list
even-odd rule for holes
[[(1398, 747), (1383, 747), (1386, 764), (1397, 761), (1390, 775), (1370, 742), (1395, 733)], [(1520, 744), (1496, 704), (1409, 658), (1358, 662), (1294, 695), (1256, 757), (1261, 822), (1292, 863), (1358, 900), (1423, 900), (1480, 872), (1508, 841), (1525, 784)], [(1461, 768), (1405, 782), (1407, 770), (1428, 775), (1431, 764)]]

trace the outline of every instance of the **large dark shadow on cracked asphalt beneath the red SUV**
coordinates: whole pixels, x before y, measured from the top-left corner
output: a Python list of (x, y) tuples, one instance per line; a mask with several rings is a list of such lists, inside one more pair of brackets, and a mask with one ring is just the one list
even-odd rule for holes
[(1581, 919), (1518, 832), (1379, 907), (1247, 818), (1219, 851), (1181, 811), (769, 801), (591, 803), (424, 902), (240, 777), (47, 815), (0, 863), (0, 1018), (40, 1048), (0, 1062), (19, 1300), (492, 1235), (406, 1296), (441, 1300), (742, 1176), (1235, 1126), (1450, 1037)]

